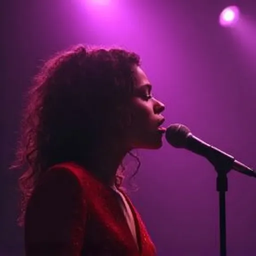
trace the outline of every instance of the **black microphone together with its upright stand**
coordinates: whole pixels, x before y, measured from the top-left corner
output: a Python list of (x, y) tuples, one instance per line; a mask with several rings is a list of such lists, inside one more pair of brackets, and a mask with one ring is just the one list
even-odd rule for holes
[(233, 156), (197, 138), (182, 124), (171, 124), (166, 130), (165, 137), (174, 147), (186, 148), (194, 153), (202, 155), (214, 166), (217, 172), (216, 190), (218, 191), (219, 196), (219, 254), (220, 256), (226, 256), (226, 175), (231, 169), (235, 169), (252, 177), (256, 177), (256, 172), (243, 163), (236, 161)]

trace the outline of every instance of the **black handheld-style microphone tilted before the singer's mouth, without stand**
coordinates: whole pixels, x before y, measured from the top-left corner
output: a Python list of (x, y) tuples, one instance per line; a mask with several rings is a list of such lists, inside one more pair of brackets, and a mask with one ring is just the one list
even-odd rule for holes
[(165, 132), (165, 138), (169, 144), (176, 148), (185, 148), (206, 157), (216, 168), (221, 168), (219, 166), (221, 161), (222, 164), (228, 165), (231, 169), (256, 177), (256, 172), (253, 169), (235, 160), (230, 154), (194, 136), (189, 128), (183, 124), (174, 123), (169, 125)]

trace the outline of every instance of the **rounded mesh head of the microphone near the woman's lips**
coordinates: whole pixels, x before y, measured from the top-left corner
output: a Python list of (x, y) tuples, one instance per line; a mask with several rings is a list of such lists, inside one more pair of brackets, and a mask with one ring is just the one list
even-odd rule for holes
[(178, 148), (185, 148), (187, 136), (190, 133), (188, 127), (180, 123), (174, 123), (167, 127), (165, 138), (169, 144)]

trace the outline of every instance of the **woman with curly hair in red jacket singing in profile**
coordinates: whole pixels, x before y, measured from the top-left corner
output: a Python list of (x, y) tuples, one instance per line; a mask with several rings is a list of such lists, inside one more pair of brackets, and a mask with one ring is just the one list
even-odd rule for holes
[(120, 186), (124, 156), (161, 147), (165, 131), (139, 56), (78, 45), (48, 60), (28, 95), (17, 154), (26, 256), (155, 255)]

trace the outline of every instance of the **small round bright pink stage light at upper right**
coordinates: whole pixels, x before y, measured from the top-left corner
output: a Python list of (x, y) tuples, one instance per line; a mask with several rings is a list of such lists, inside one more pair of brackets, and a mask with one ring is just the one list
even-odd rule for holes
[(219, 23), (222, 26), (232, 26), (239, 19), (239, 9), (237, 6), (228, 6), (224, 8), (219, 15)]

